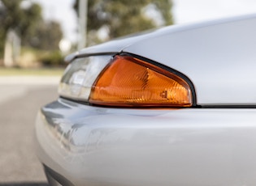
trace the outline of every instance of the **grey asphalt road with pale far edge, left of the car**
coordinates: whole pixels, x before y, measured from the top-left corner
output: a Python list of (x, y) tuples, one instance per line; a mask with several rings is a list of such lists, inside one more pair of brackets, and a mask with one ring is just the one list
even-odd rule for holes
[(58, 79), (10, 79), (0, 78), (0, 186), (46, 186), (33, 129), (38, 109), (57, 98)]

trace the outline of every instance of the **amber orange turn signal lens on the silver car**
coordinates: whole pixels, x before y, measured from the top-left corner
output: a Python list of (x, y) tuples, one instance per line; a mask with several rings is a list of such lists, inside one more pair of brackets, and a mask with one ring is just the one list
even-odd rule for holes
[(116, 56), (93, 84), (89, 103), (120, 107), (190, 107), (189, 84), (146, 61)]

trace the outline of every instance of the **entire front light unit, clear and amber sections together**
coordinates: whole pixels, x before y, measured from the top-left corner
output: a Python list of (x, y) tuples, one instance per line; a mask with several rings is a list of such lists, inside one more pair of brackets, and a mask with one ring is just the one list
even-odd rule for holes
[(76, 59), (67, 67), (60, 95), (115, 107), (190, 107), (192, 91), (177, 74), (136, 57)]

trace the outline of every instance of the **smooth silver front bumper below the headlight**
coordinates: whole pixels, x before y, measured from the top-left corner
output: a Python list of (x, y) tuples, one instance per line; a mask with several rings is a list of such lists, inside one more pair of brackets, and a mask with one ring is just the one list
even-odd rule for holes
[(256, 184), (256, 109), (41, 108), (37, 155), (74, 185)]

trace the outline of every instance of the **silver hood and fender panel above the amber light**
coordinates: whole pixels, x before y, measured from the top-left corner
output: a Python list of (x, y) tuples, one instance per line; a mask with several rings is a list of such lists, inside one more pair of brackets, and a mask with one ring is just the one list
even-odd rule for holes
[(187, 76), (198, 105), (255, 105), (256, 15), (171, 26), (83, 49), (133, 53)]

